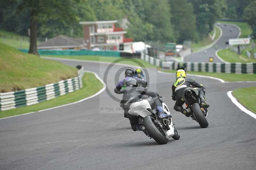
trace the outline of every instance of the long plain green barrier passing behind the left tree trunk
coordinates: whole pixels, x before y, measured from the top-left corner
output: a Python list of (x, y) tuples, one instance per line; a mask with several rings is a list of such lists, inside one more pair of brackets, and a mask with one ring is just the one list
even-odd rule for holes
[[(28, 49), (19, 49), (28, 53)], [(91, 50), (37, 50), (39, 55), (62, 55), (62, 56), (108, 56), (120, 57), (118, 51), (91, 51)]]

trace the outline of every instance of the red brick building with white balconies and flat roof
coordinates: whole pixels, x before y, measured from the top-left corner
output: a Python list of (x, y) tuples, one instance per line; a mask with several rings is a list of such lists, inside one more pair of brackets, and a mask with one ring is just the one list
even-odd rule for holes
[(127, 31), (115, 27), (116, 22), (116, 20), (79, 22), (84, 27), (87, 49), (119, 50), (120, 43), (132, 42), (131, 38), (124, 38)]

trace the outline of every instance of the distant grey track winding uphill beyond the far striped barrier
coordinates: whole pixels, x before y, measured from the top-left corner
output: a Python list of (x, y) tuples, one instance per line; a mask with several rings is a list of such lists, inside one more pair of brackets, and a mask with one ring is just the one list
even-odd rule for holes
[[(204, 50), (200, 52), (192, 53), (186, 56), (184, 58), (184, 61), (185, 62), (208, 62), (209, 58), (212, 56), (214, 58), (213, 62), (222, 63), (222, 61), (215, 55), (215, 51), (228, 47), (229, 45), (226, 44), (228, 39), (237, 38), (240, 30), (238, 27), (230, 24), (227, 24), (226, 26), (224, 26), (224, 24), (221, 23), (219, 27), (222, 30), (222, 36), (220, 37), (219, 41), (217, 41), (212, 47), (206, 49), (206, 53), (204, 53)], [(229, 28), (231, 28), (232, 32), (229, 31)], [(217, 45), (217, 49), (215, 49), (215, 45)]]

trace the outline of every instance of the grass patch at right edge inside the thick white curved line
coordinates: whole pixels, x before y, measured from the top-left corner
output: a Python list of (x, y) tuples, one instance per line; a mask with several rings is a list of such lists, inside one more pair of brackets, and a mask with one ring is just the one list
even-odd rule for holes
[(247, 109), (256, 113), (256, 87), (236, 89), (232, 94)]

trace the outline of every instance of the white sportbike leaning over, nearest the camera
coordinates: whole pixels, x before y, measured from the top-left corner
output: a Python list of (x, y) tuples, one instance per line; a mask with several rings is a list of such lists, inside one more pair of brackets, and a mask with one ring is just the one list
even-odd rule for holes
[[(143, 124), (146, 128), (148, 136), (152, 137), (158, 144), (167, 143), (171, 137), (175, 140), (180, 139), (180, 134), (174, 127), (172, 118), (160, 120), (156, 110), (151, 109), (148, 100), (150, 98), (131, 104), (128, 113), (139, 117), (139, 123)], [(166, 114), (170, 115), (170, 111), (165, 103), (163, 103), (163, 110)]]

